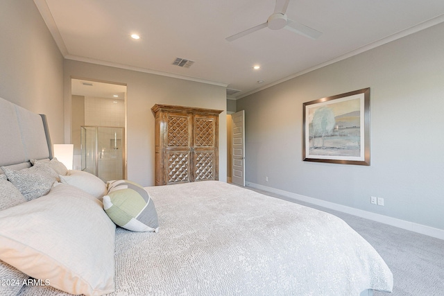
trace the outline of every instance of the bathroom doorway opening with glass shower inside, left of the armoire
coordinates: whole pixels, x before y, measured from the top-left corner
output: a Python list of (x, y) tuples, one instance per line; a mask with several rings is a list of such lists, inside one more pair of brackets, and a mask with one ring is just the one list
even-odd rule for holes
[(126, 85), (71, 79), (74, 169), (126, 178)]

